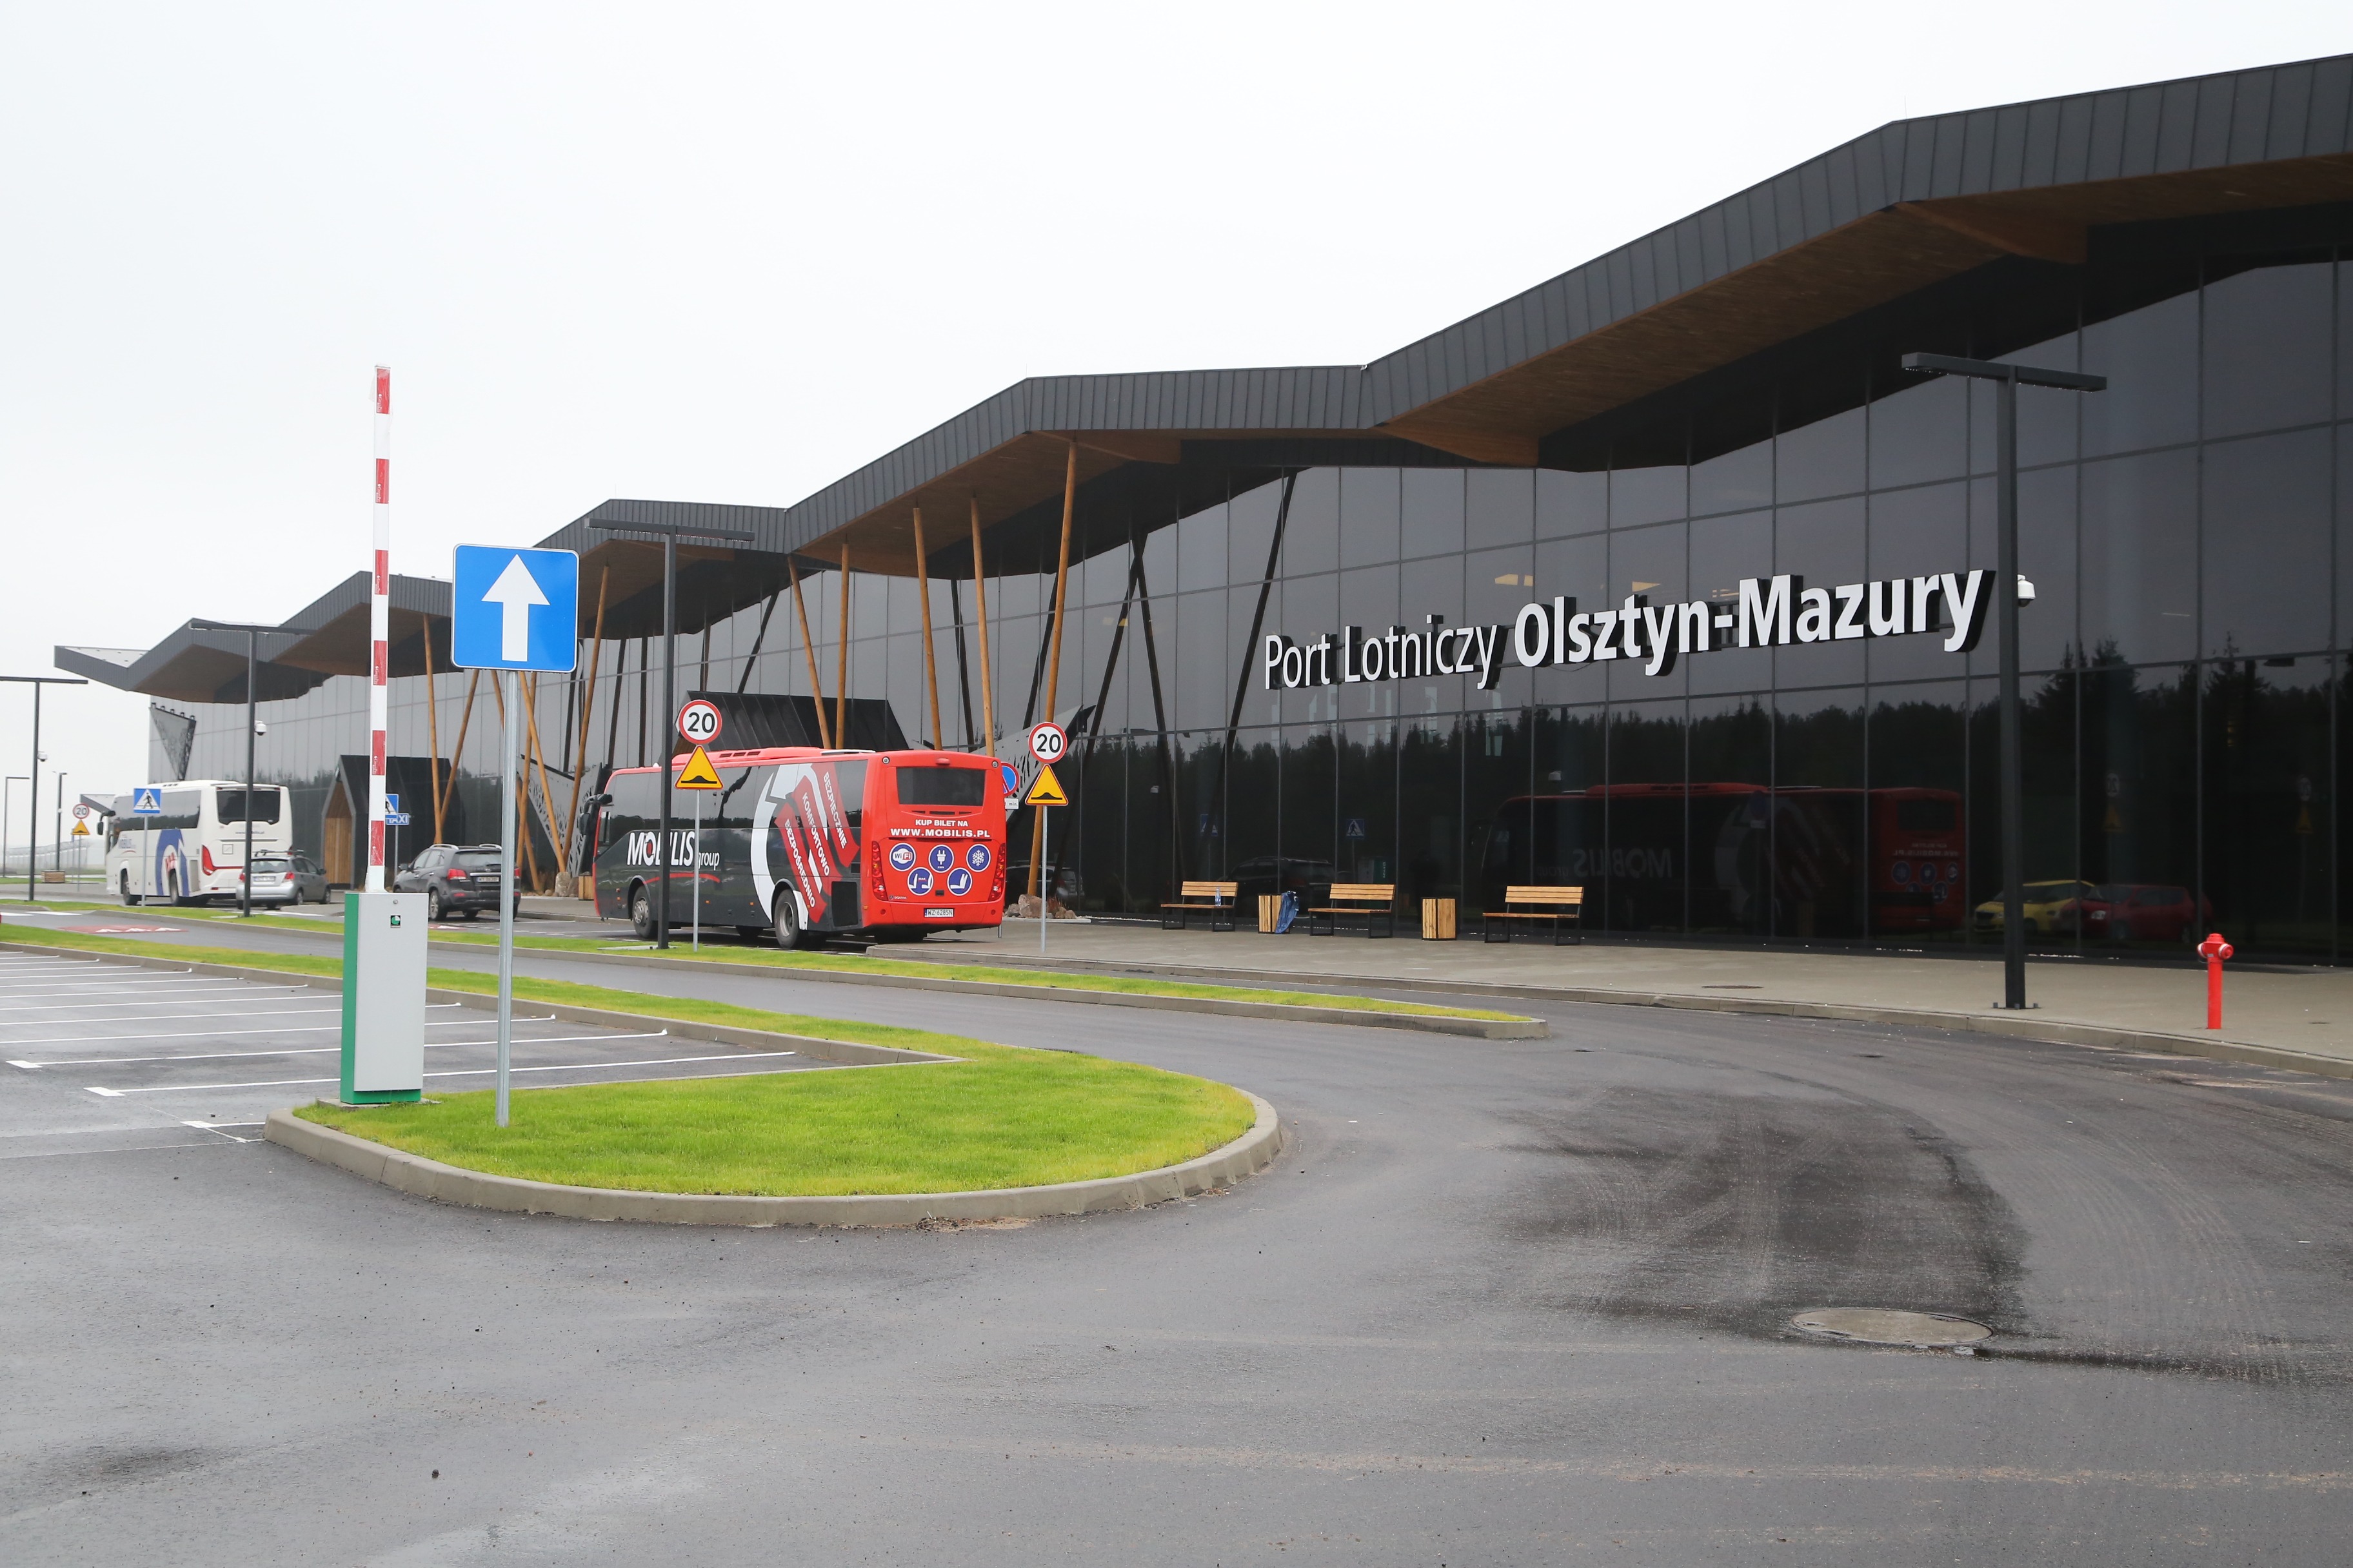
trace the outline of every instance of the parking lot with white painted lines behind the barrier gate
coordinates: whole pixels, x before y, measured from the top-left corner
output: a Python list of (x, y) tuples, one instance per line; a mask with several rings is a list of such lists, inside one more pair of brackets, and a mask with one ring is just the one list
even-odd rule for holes
[[(282, 1105), (334, 1098), (341, 999), (299, 980), (0, 954), (0, 1140), (16, 1154), (259, 1138)], [(489, 1088), (496, 1016), (426, 1009), (426, 1093)], [(828, 1067), (668, 1030), (605, 1030), (515, 1004), (518, 1088)], [(21, 1140), (45, 1140), (26, 1145)]]

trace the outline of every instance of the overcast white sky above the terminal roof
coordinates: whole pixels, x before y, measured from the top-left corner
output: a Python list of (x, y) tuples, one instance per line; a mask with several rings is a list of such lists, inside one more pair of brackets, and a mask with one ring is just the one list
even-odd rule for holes
[[(2344, 0), (9, 0), (0, 672), (360, 569), (379, 360), (447, 576), (1031, 374), (1365, 362), (1885, 120), (2341, 49)], [(146, 698), (47, 715), (68, 790), (144, 771)]]

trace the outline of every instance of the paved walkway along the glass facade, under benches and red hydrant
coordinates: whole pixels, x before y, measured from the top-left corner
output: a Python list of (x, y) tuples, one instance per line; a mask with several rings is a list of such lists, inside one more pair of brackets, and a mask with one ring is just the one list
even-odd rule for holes
[[(944, 964), (1035, 964), (1038, 924), (1007, 922), (1002, 938), (932, 938), (892, 957)], [(2005, 1034), (2148, 1044), (2200, 1056), (2292, 1051), (2353, 1074), (2353, 971), (2231, 969), (2224, 1032), (2205, 1030), (2205, 969), (2099, 959), (2031, 959), (2026, 1016), (2002, 1013), (2002, 966), (1995, 959), (1894, 957), (1859, 952), (1786, 952), (1737, 947), (1638, 947), (1544, 940), (1426, 943), (1417, 936), (1259, 936), (1257, 931), (1160, 931), (1158, 926), (1056, 922), (1047, 964), (1125, 969), (1224, 980), (1325, 980), (1365, 987), (1461, 987), (1508, 994), (1534, 987), (1588, 1001), (1652, 1001), (1722, 1011), (1807, 1011), (1901, 1023), (1953, 1023)], [(2104, 1039), (2118, 1034), (2122, 1039)], [(2144, 1037), (2134, 1041), (2129, 1037)], [(2240, 1046), (2242, 1051), (2214, 1051)], [(2313, 1063), (2318, 1070), (2325, 1065)], [(2275, 1063), (2278, 1065), (2278, 1063)]]

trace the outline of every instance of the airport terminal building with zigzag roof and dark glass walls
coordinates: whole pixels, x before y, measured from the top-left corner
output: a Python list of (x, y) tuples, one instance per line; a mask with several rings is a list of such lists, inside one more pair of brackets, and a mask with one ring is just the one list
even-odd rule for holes
[[(2035, 943), (2339, 961), (2348, 115), (2353, 56), (1897, 122), (1369, 364), (1024, 381), (798, 505), (607, 501), (541, 541), (584, 642), (536, 879), (671, 750), (661, 545), (591, 527), (635, 520), (753, 534), (680, 550), (727, 743), (1064, 722), (1087, 912), (1546, 882), (1595, 933), (1995, 952), (1993, 390), (1901, 369), (1946, 353), (2108, 378), (2019, 393)], [(395, 578), (416, 846), (496, 825), (447, 632)], [(351, 879), (365, 576), (261, 651), (261, 776)], [(155, 778), (242, 773), (242, 635), (56, 661), (155, 698)]]

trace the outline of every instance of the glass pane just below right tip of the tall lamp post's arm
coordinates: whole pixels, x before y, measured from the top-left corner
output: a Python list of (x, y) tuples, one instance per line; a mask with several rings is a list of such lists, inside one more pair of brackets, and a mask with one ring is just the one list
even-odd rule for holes
[(2198, 451), (2082, 465), (2082, 656), (2198, 654)]

